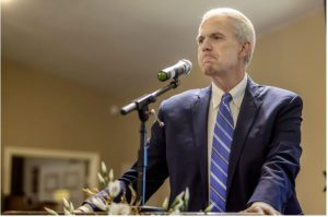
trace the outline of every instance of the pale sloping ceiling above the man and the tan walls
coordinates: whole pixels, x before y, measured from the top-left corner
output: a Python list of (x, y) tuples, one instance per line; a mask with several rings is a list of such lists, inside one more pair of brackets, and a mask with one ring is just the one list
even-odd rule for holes
[(196, 35), (211, 8), (241, 10), (258, 35), (324, 0), (2, 0), (2, 61), (97, 88), (138, 92), (179, 59), (196, 63)]

